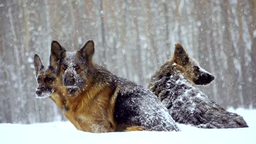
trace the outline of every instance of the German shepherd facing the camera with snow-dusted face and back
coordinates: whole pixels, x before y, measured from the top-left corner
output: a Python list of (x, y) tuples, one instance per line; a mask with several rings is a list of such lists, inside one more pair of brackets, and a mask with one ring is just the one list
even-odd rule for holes
[(178, 131), (166, 107), (152, 92), (92, 63), (94, 50), (92, 40), (77, 52), (63, 51), (57, 41), (51, 47), (50, 63), (60, 67), (59, 77), (67, 89), (67, 112), (79, 130)]

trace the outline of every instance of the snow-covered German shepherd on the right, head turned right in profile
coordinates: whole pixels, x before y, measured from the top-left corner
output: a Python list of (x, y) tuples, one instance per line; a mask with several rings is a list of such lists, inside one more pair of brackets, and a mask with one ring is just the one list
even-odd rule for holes
[(199, 128), (245, 128), (245, 120), (222, 106), (193, 85), (207, 85), (214, 77), (176, 44), (172, 59), (151, 77), (148, 88), (158, 96), (174, 121)]

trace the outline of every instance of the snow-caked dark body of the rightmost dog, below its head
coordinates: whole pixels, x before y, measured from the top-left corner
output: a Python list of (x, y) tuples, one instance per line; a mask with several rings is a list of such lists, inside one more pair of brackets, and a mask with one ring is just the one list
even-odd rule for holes
[(199, 128), (243, 128), (245, 120), (236, 113), (226, 111), (207, 95), (193, 87), (175, 65), (166, 62), (152, 76), (150, 91), (167, 107), (174, 121)]

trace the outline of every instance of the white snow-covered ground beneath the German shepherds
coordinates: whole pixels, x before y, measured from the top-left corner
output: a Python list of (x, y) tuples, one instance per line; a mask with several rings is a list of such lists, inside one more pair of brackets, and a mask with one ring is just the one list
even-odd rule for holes
[(179, 132), (132, 131), (93, 134), (76, 130), (69, 122), (0, 124), (4, 143), (256, 143), (256, 110), (229, 109), (243, 116), (249, 128), (198, 129), (178, 124)]

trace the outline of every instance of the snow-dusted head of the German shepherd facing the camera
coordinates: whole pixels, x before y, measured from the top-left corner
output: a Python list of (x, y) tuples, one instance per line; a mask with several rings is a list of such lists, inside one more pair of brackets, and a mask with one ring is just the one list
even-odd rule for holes
[(69, 92), (79, 92), (86, 89), (92, 81), (91, 71), (93, 66), (94, 41), (89, 40), (77, 52), (63, 51), (59, 43), (54, 45), (51, 47), (51, 61), (53, 61), (51, 63), (54, 64), (60, 61), (60, 77), (63, 86)]

